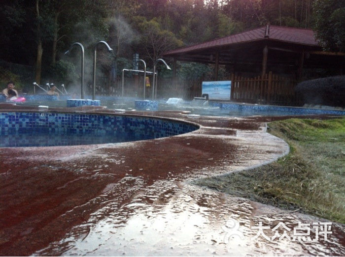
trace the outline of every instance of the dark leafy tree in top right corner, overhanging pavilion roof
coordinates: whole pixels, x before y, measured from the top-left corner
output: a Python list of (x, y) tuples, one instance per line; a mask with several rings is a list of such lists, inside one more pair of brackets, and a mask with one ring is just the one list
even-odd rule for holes
[(345, 1), (315, 0), (313, 29), (328, 51), (345, 52)]

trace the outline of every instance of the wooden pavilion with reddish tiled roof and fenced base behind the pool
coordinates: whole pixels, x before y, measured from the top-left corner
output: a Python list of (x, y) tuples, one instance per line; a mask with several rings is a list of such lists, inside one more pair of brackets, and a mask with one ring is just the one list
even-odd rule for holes
[[(320, 70), (344, 74), (345, 53), (324, 52), (311, 29), (267, 25), (239, 34), (172, 50), (176, 61), (214, 64), (214, 80), (220, 65), (231, 74), (231, 99), (247, 103), (298, 104), (297, 82), (320, 77)], [(319, 74), (316, 74), (319, 72)], [(200, 96), (201, 85), (195, 96)]]

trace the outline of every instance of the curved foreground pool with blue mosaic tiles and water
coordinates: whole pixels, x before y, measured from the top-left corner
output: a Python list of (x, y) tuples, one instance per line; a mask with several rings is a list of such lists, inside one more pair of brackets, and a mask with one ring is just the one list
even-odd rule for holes
[(188, 133), (199, 126), (149, 116), (1, 112), (0, 147), (120, 143)]

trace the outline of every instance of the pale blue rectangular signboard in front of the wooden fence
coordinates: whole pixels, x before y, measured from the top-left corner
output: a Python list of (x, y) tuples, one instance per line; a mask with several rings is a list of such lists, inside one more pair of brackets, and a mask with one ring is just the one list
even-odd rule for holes
[(230, 100), (231, 81), (203, 81), (203, 94), (210, 100)]

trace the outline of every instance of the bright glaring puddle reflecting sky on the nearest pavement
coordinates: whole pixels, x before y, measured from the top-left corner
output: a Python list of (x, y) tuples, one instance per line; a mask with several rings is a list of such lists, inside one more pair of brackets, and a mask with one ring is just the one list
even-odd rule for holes
[[(129, 186), (136, 180), (137, 187)], [(146, 189), (140, 178), (122, 180), (122, 194), (134, 195), (126, 204), (114, 200), (93, 213), (84, 224), (74, 227), (67, 237), (54, 242), (35, 255), (92, 256), (244, 256), (244, 255), (344, 255), (345, 227), (332, 224), (334, 234), (328, 242), (299, 242), (288, 239), (267, 241), (253, 228), (262, 222), (272, 228), (279, 222), (293, 230), (298, 222), (319, 222), (300, 213), (280, 214), (270, 218), (277, 208), (266, 206), (270, 213), (256, 215), (255, 203), (200, 187), (161, 180)], [(133, 182), (133, 181), (132, 181)], [(107, 191), (107, 194), (115, 193)], [(132, 183), (131, 183), (132, 184)], [(137, 194), (135, 193), (137, 192)], [(138, 193), (139, 192), (139, 193)], [(107, 197), (108, 198), (108, 197)], [(238, 228), (234, 229), (234, 224)], [(234, 232), (235, 231), (235, 232)], [(239, 231), (240, 233), (237, 233)], [(284, 229), (279, 228), (279, 236)], [(313, 231), (311, 231), (312, 234)], [(292, 237), (292, 231), (289, 234)], [(344, 239), (343, 239), (344, 240)]]

